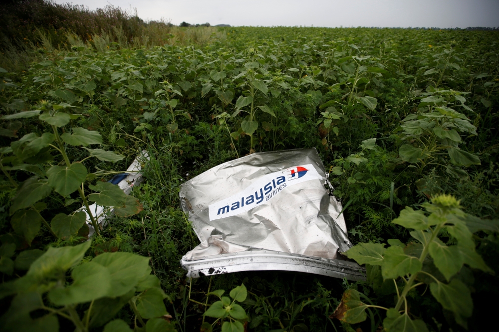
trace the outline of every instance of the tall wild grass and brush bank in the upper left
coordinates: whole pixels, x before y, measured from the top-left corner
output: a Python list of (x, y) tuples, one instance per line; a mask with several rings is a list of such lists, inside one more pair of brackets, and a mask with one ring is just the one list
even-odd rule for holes
[(52, 0), (7, 0), (0, 11), (0, 26), (0, 67), (8, 71), (26, 69), (40, 54), (56, 57), (71, 46), (106, 52), (116, 47), (203, 45), (226, 38), (216, 27), (144, 22), (136, 10), (112, 5), (89, 10)]

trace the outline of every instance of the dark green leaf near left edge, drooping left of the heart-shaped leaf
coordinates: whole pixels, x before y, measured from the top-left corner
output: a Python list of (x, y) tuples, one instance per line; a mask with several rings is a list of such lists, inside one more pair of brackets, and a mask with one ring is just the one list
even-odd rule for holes
[(29, 207), (48, 196), (52, 188), (48, 182), (38, 180), (38, 176), (33, 176), (22, 182), (12, 198), (10, 206), (10, 214), (13, 214), (18, 209)]

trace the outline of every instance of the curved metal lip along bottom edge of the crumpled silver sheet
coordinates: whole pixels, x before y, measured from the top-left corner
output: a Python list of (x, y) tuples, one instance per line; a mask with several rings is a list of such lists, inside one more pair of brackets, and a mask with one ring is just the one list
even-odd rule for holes
[(366, 280), (366, 270), (354, 262), (254, 249), (180, 261), (188, 278), (242, 271), (294, 271), (323, 276)]

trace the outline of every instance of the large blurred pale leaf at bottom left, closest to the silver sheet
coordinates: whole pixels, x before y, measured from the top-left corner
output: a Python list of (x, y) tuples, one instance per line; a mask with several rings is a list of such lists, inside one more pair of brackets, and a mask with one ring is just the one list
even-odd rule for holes
[(122, 296), (151, 273), (149, 257), (127, 252), (103, 253), (92, 262), (107, 267), (111, 273), (111, 289), (107, 296)]

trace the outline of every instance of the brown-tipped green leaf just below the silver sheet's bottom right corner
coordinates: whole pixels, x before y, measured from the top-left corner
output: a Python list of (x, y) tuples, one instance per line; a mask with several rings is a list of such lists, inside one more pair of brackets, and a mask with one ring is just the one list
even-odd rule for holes
[(331, 315), (331, 318), (336, 318), (348, 324), (357, 324), (366, 320), (367, 308), (367, 305), (360, 301), (360, 293), (350, 288), (343, 293), (341, 302)]

